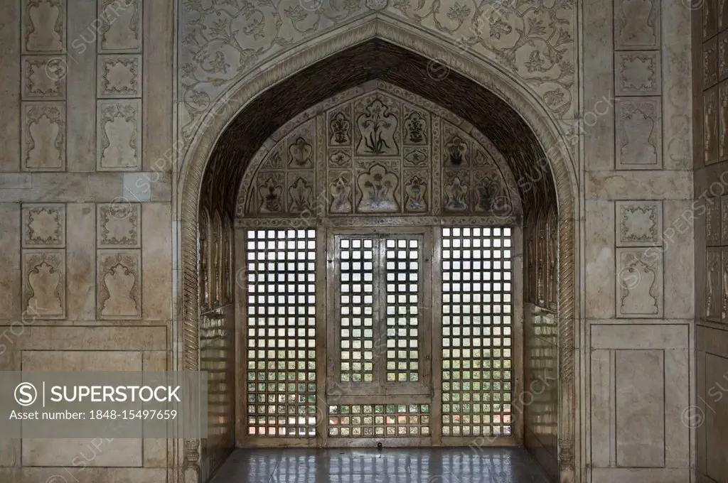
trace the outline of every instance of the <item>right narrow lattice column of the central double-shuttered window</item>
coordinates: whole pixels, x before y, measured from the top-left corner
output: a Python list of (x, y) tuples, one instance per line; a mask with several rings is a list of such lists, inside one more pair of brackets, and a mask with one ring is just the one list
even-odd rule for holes
[(387, 239), (387, 380), (419, 380), (417, 238)]

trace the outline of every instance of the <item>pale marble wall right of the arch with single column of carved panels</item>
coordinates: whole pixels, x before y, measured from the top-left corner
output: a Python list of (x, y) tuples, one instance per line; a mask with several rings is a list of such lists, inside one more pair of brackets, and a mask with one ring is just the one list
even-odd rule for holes
[(691, 481), (689, 4), (583, 3), (582, 434), (595, 483)]

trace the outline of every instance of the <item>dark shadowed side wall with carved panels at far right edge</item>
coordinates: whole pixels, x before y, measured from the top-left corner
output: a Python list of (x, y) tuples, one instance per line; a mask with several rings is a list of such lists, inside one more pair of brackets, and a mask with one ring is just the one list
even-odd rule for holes
[(692, 12), (695, 157), (695, 387), (687, 424), (695, 430), (698, 481), (728, 478), (723, 388), (728, 388), (728, 4)]

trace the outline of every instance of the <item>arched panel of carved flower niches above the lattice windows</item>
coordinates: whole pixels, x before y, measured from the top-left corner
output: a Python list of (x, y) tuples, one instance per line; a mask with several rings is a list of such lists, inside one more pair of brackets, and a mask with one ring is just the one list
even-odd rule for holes
[(515, 192), (505, 159), (470, 124), (371, 81), (264, 143), (243, 177), (237, 218), (510, 217), (521, 214)]

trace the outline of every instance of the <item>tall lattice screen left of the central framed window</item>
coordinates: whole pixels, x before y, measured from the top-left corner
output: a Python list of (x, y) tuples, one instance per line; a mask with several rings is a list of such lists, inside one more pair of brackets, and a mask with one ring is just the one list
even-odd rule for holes
[(315, 436), (315, 230), (246, 231), (248, 434)]

